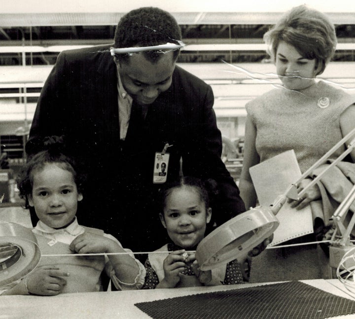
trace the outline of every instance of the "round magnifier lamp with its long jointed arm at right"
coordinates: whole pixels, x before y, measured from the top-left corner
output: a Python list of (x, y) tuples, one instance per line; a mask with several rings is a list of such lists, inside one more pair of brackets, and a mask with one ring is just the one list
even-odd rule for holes
[[(341, 139), (333, 148), (331, 148), (322, 158), (320, 158), (312, 167), (310, 167), (294, 184), (291, 184), (283, 195), (280, 195), (274, 200), (273, 204), (265, 206), (257, 206), (250, 208), (247, 212), (240, 214), (223, 225), (219, 226), (216, 230), (210, 233), (207, 237), (202, 239), (196, 249), (196, 259), (198, 260), (202, 270), (213, 269), (222, 263), (229, 262), (235, 258), (243, 260), (248, 251), (262, 242), (265, 238), (269, 237), (279, 226), (279, 221), (275, 215), (279, 212), (284, 205), (287, 198), (299, 199), (308, 188), (317, 183), (323, 174), (340, 160), (344, 159), (355, 147), (355, 138), (351, 141), (348, 149), (328, 165), (320, 175), (315, 178), (309, 185), (307, 185), (302, 192), (297, 193), (296, 185), (302, 179), (306, 178), (316, 167), (324, 163), (329, 156), (334, 153), (343, 143), (348, 141), (355, 135), (355, 128)], [(338, 229), (343, 237), (350, 234), (355, 224), (355, 217), (352, 219), (348, 229), (340, 223), (342, 215), (347, 211), (355, 198), (354, 194), (347, 196), (337, 210), (337, 215), (333, 216), (335, 221), (339, 220)], [(348, 203), (348, 201), (350, 203)], [(349, 206), (348, 206), (349, 205)], [(344, 207), (344, 208), (342, 208)], [(350, 241), (349, 241), (350, 242)]]

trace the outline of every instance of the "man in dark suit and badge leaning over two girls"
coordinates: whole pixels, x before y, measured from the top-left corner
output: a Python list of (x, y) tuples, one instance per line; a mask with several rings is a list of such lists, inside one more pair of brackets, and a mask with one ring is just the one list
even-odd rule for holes
[[(118, 23), (114, 48), (181, 44), (176, 20), (140, 8)], [(88, 170), (80, 224), (100, 228), (125, 247), (150, 251), (165, 242), (155, 210), (157, 154), (169, 154), (167, 181), (179, 174), (212, 178), (219, 193), (213, 224), (245, 211), (220, 159), (221, 134), (209, 85), (176, 66), (178, 49), (110, 53), (109, 45), (63, 51), (38, 100), (26, 145), (29, 156), (49, 135), (65, 135), (68, 151)], [(164, 177), (165, 178), (165, 177)]]

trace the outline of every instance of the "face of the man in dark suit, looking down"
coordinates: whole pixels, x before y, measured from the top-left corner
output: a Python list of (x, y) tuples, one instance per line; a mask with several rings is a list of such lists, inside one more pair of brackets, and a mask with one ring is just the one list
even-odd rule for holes
[(129, 63), (116, 61), (124, 89), (138, 104), (152, 104), (172, 83), (175, 69), (173, 51), (161, 54), (155, 63), (145, 59), (142, 53), (130, 56)]

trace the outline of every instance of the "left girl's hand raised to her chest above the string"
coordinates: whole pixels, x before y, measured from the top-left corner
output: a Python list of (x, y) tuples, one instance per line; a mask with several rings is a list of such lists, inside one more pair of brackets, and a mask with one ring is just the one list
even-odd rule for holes
[(85, 232), (73, 239), (70, 249), (78, 254), (110, 252), (110, 247), (116, 243), (102, 235)]

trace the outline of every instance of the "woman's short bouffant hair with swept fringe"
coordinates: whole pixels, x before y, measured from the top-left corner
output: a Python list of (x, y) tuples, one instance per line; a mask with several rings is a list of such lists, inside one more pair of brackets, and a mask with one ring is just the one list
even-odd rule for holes
[(332, 58), (336, 44), (334, 25), (329, 18), (306, 5), (292, 8), (264, 35), (269, 54), (276, 61), (280, 41), (293, 45), (306, 59), (316, 59), (320, 75)]

